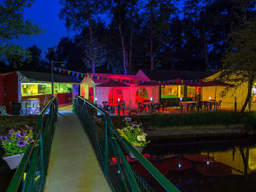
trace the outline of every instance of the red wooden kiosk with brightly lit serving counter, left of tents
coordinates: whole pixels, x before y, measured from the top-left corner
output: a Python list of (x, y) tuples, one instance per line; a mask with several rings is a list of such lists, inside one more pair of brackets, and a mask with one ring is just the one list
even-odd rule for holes
[[(72, 102), (72, 98), (80, 95), (80, 80), (74, 76), (53, 75), (54, 95), (59, 104)], [(12, 105), (26, 100), (37, 100), (38, 105), (45, 105), (51, 95), (51, 74), (31, 71), (12, 71), (0, 73), (0, 105), (6, 106), (8, 114), (12, 113)], [(24, 106), (22, 105), (22, 111)]]

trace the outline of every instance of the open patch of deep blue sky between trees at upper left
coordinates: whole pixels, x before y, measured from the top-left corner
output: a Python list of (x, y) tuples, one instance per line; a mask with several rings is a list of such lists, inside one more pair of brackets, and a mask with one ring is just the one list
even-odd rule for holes
[(60, 4), (58, 0), (37, 0), (32, 7), (24, 11), (24, 18), (33, 19), (40, 27), (46, 31), (43, 35), (31, 36), (25, 40), (14, 40), (17, 45), (30, 47), (37, 45), (43, 52), (47, 51), (47, 47), (58, 44), (60, 38), (73, 33), (67, 32), (64, 21), (60, 21), (58, 13), (60, 12)]

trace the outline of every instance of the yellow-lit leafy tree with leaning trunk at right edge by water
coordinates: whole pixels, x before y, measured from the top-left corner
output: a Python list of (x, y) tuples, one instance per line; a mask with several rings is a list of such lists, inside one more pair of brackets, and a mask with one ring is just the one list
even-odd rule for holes
[(218, 78), (232, 86), (225, 88), (221, 95), (225, 96), (230, 89), (237, 89), (247, 83), (248, 93), (241, 109), (244, 111), (256, 82), (256, 19), (235, 28), (229, 34), (228, 40), (229, 47), (225, 51), (223, 68)]

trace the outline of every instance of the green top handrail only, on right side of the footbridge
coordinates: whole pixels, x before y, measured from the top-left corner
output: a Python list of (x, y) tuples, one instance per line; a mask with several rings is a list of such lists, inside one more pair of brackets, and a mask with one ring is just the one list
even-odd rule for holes
[(147, 171), (149, 171), (149, 173), (159, 182), (159, 184), (161, 186), (163, 186), (163, 188), (166, 191), (172, 191), (172, 192), (178, 192), (179, 191), (168, 179), (165, 178), (165, 176), (163, 174), (160, 173), (159, 170), (157, 170), (155, 168), (154, 165), (152, 165), (129, 142), (127, 142), (125, 139), (123, 139), (120, 136), (119, 132), (117, 132), (116, 129), (114, 128), (114, 125), (112, 124), (110, 116), (109, 116), (109, 114), (107, 114), (107, 112), (105, 112), (104, 110), (100, 109), (98, 106), (93, 104), (92, 102), (90, 102), (90, 101), (88, 101), (88, 100), (86, 100), (86, 99), (84, 99), (80, 96), (78, 96), (77, 98), (83, 100), (88, 105), (93, 107), (93, 109), (101, 112), (101, 114), (104, 115), (104, 117), (106, 118), (106, 121), (107, 121), (107, 126), (109, 127), (109, 130), (112, 132), (112, 134), (115, 135), (116, 139), (118, 141), (120, 141), (123, 145), (125, 145), (127, 148), (129, 148), (129, 150), (132, 152), (132, 154), (134, 154), (136, 159), (146, 168)]

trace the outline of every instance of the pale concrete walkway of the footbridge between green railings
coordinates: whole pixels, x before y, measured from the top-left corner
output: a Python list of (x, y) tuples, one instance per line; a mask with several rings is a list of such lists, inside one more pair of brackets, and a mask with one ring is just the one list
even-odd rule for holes
[(77, 116), (58, 115), (46, 192), (111, 191)]

